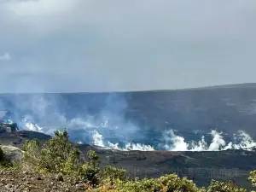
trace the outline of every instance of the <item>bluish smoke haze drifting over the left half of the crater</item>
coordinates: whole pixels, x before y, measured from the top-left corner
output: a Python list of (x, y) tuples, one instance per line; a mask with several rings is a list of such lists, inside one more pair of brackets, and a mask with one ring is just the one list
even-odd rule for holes
[(53, 135), (66, 128), (73, 142), (94, 143), (93, 131), (117, 143), (141, 137), (136, 134), (139, 127), (125, 119), (124, 96), (89, 96), (88, 100), (79, 94), (11, 95), (0, 98), (0, 108), (12, 112), (4, 120), (16, 122), (20, 129)]

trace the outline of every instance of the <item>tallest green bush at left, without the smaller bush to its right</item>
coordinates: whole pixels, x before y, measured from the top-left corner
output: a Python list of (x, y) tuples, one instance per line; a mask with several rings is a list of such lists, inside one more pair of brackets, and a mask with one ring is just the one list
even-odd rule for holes
[(68, 141), (67, 131), (55, 131), (55, 137), (49, 139), (40, 148), (38, 140), (26, 141), (22, 167), (28, 171), (62, 173), (79, 177), (82, 171), (80, 151)]

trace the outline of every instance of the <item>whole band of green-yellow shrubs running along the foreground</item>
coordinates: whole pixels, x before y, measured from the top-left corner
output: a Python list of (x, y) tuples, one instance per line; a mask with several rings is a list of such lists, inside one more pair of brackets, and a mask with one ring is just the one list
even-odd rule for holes
[[(0, 166), (2, 169), (15, 169), (20, 172), (38, 172), (61, 174), (73, 177), (84, 183), (84, 191), (90, 192), (246, 192), (231, 182), (212, 180), (207, 188), (199, 188), (186, 177), (177, 174), (159, 178), (129, 178), (125, 169), (113, 166), (100, 168), (100, 160), (95, 151), (88, 152), (88, 160), (81, 157), (79, 148), (74, 148), (68, 140), (67, 131), (55, 131), (44, 146), (38, 140), (26, 141), (22, 148), (23, 158), (19, 163), (6, 160), (0, 146)], [(248, 178), (256, 186), (256, 171)]]

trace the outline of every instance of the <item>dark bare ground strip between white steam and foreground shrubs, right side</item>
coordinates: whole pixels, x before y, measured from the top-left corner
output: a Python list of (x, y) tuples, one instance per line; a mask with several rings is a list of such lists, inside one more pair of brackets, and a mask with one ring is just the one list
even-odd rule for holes
[[(79, 146), (83, 152), (92, 149)], [(160, 177), (176, 172), (189, 177), (198, 186), (208, 185), (212, 179), (233, 181), (250, 188), (249, 172), (256, 169), (256, 153), (240, 150), (219, 152), (170, 152), (170, 151), (114, 151), (94, 148), (102, 166), (125, 168), (130, 177)]]

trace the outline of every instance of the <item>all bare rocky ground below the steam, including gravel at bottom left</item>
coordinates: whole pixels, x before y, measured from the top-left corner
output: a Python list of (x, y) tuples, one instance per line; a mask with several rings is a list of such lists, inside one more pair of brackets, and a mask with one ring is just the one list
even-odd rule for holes
[[(17, 160), (22, 153), (20, 147), (26, 139), (38, 138), (44, 143), (50, 137), (33, 131), (4, 132), (0, 134), (0, 143), (8, 158)], [(170, 151), (117, 151), (98, 148), (86, 144), (74, 144), (82, 151), (84, 158), (86, 153), (93, 149), (100, 156), (101, 166), (112, 165), (118, 168), (125, 168), (129, 177), (160, 177), (161, 175), (177, 172), (180, 177), (189, 177), (199, 186), (210, 183), (212, 179), (223, 181), (232, 180), (237, 185), (251, 189), (251, 183), (247, 181), (249, 172), (256, 169), (256, 152), (243, 150), (226, 150), (219, 152), (170, 152)], [(7, 183), (15, 183), (19, 179), (25, 179), (24, 188), (29, 187), (27, 182), (35, 186), (43, 186), (47, 191), (52, 183), (59, 191), (63, 186), (51, 180), (51, 177), (39, 178), (38, 175), (16, 174), (15, 172), (2, 173), (4, 177), (0, 183), (6, 186)], [(17, 178), (16, 178), (17, 177)], [(30, 178), (32, 177), (32, 179)], [(37, 184), (38, 183), (38, 184)], [(58, 186), (61, 188), (58, 188)], [(48, 186), (48, 187), (47, 187)], [(32, 188), (32, 187), (31, 187)], [(69, 188), (71, 189), (71, 188)], [(17, 190), (15, 190), (17, 191)], [(36, 191), (36, 189), (34, 189)], [(72, 190), (75, 191), (75, 190)]]

